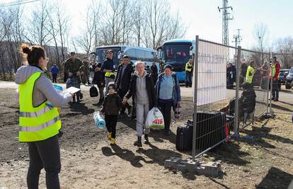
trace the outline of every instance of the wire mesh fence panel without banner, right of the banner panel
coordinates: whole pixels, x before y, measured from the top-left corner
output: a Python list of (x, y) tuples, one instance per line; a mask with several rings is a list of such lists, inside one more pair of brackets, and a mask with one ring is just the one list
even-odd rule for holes
[(238, 97), (239, 130), (268, 111), (270, 54), (239, 50)]

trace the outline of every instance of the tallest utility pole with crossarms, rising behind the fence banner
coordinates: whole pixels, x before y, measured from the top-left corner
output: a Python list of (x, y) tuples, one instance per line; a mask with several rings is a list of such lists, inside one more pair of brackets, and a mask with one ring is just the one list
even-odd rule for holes
[(229, 9), (233, 10), (232, 6), (228, 6), (228, 0), (223, 0), (223, 7), (219, 8), (219, 12), (223, 12), (222, 18), (222, 43), (224, 45), (229, 45), (229, 21), (233, 20), (233, 17), (230, 17)]

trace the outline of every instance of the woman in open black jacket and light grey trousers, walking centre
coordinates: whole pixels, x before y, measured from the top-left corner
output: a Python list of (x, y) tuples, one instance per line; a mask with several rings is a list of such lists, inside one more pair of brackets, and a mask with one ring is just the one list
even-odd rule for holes
[(155, 90), (154, 82), (150, 74), (147, 74), (144, 70), (144, 62), (135, 63), (134, 75), (130, 81), (130, 88), (125, 97), (123, 103), (127, 102), (131, 96), (134, 96), (136, 113), (137, 113), (137, 141), (134, 145), (142, 147), (142, 134), (144, 133), (144, 143), (149, 143), (149, 129), (144, 127), (146, 115), (154, 107), (155, 103)]

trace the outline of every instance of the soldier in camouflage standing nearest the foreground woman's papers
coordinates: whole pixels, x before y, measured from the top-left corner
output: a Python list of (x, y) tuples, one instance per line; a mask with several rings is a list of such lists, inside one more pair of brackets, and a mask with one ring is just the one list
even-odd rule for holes
[[(65, 60), (64, 62), (64, 73), (67, 73), (69, 76), (69, 80), (67, 80), (67, 88), (70, 86), (74, 86), (76, 88), (80, 88), (81, 79), (80, 79), (80, 68), (83, 65), (81, 60), (76, 58), (75, 52), (70, 53), (70, 58)], [(76, 93), (77, 102), (82, 98), (82, 93)], [(73, 97), (73, 102), (75, 102), (75, 95)]]

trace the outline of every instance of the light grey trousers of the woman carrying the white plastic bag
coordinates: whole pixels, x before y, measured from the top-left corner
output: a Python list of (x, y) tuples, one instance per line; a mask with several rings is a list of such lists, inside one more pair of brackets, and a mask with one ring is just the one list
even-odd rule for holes
[(146, 115), (149, 113), (149, 103), (137, 103), (137, 136), (142, 137), (142, 134), (149, 134), (149, 128), (145, 127)]

